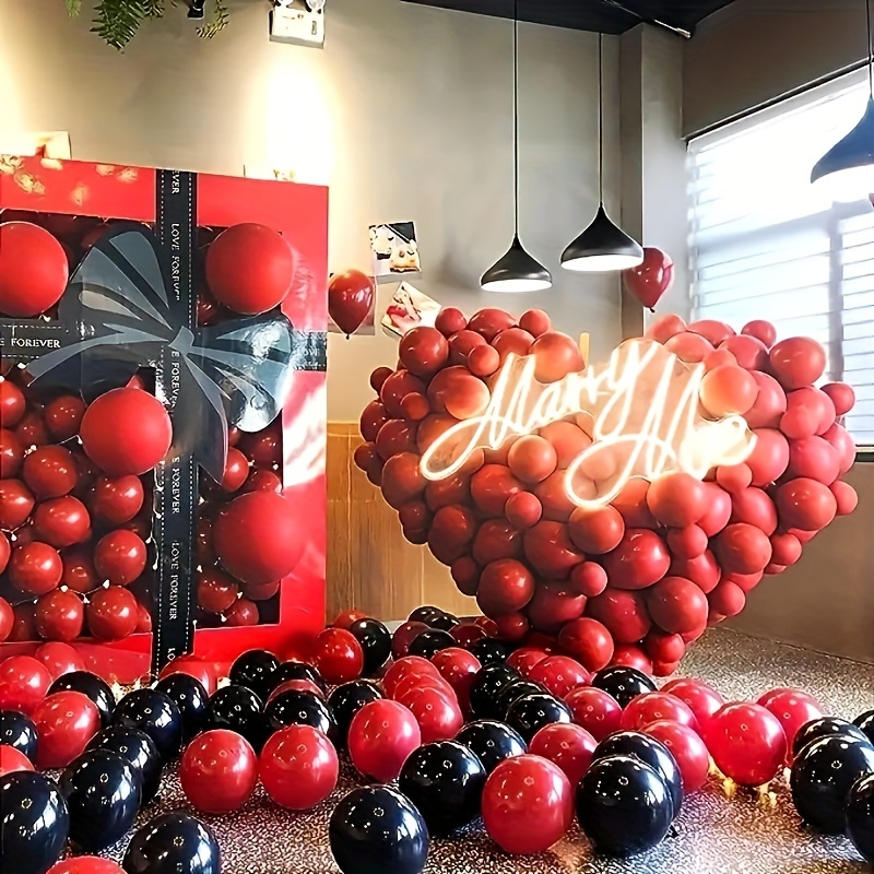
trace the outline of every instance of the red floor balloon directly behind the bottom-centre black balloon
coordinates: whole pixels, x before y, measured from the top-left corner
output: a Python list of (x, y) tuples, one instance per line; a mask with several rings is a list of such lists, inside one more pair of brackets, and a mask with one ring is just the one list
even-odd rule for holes
[(415, 717), (398, 701), (366, 704), (349, 729), (352, 764), (365, 776), (388, 783), (398, 778), (404, 761), (422, 743)]

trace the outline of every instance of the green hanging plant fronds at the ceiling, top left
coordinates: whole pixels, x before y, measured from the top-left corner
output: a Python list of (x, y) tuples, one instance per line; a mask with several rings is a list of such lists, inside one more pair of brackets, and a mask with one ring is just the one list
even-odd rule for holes
[[(176, 0), (169, 0), (175, 7)], [(229, 21), (225, 0), (187, 0), (190, 17), (204, 17), (198, 35), (212, 39)], [(161, 19), (167, 0), (97, 0), (94, 3), (92, 33), (119, 50), (130, 43), (146, 19)], [(71, 17), (82, 12), (82, 0), (67, 0)]]

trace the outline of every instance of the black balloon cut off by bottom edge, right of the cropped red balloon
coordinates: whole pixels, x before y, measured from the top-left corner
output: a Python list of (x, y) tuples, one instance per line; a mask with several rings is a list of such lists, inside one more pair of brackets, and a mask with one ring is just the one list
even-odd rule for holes
[(205, 823), (176, 811), (137, 830), (121, 866), (127, 874), (221, 874), (222, 853)]

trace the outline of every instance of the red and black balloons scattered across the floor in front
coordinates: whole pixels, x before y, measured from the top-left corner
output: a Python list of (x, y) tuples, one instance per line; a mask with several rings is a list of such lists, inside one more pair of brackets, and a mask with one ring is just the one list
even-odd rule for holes
[[(58, 859), (68, 840), (96, 854), (125, 838), (177, 759), (190, 805), (221, 814), (259, 781), (277, 805), (311, 810), (347, 756), (366, 784), (330, 817), (344, 874), (418, 874), (430, 838), (480, 818), (512, 854), (548, 849), (576, 819), (595, 851), (633, 855), (664, 839), (717, 768), (759, 787), (789, 767), (802, 820), (846, 831), (874, 862), (874, 711), (851, 723), (791, 688), (724, 701), (696, 678), (657, 689), (634, 668), (591, 674), (547, 648), (501, 645), (489, 623), (421, 607), (391, 635), (349, 611), (305, 661), (252, 650), (215, 688), (185, 657), (117, 702), (93, 674), (49, 685), (35, 659), (8, 659), (2, 858), (16, 874), (220, 874), (214, 834), (179, 811), (137, 830), (121, 869)], [(34, 768), (61, 769), (59, 782)]]

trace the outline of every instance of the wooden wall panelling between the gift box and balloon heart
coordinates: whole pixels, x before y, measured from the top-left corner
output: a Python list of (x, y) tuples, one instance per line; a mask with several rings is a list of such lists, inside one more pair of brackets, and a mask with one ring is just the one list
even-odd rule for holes
[(398, 513), (355, 466), (357, 424), (328, 425), (328, 617), (357, 607), (388, 619), (421, 604), (479, 613), (427, 546), (404, 540)]

